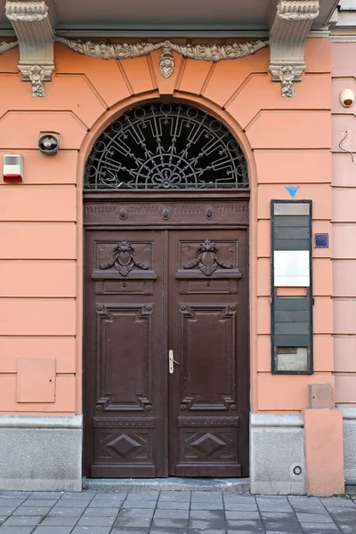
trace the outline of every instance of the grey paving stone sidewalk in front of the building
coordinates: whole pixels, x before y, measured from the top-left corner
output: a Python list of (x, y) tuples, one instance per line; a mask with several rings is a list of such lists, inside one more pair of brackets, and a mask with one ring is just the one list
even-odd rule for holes
[(221, 491), (0, 492), (0, 534), (356, 534), (356, 498)]

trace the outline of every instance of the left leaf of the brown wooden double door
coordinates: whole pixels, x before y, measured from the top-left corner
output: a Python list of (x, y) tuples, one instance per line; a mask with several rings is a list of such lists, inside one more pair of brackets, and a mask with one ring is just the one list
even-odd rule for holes
[(86, 462), (94, 477), (166, 475), (161, 255), (161, 231), (86, 232)]

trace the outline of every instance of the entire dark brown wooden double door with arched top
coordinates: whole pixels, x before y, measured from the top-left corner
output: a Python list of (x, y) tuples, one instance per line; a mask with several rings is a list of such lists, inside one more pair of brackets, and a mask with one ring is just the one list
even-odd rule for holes
[[(191, 109), (159, 115), (153, 108), (149, 119), (148, 109), (122, 117), (126, 131), (114, 123), (111, 145), (107, 137), (105, 150), (94, 146), (88, 161), (85, 475), (247, 476), (248, 190), (239, 188), (241, 169), (234, 190), (190, 187), (184, 169), (197, 158), (187, 149), (190, 136), (200, 142), (198, 153), (210, 147), (210, 161), (217, 152), (221, 164), (219, 137), (226, 146), (231, 134), (216, 134), (205, 117), (202, 127), (200, 117), (179, 146)], [(167, 131), (171, 144), (176, 137), (170, 154)], [(204, 140), (200, 131), (213, 134)], [(130, 135), (146, 144), (143, 165)], [(225, 159), (233, 170), (231, 154)], [(117, 181), (111, 190), (108, 182), (100, 187), (105, 172), (104, 182)], [(216, 172), (224, 175), (222, 165)]]

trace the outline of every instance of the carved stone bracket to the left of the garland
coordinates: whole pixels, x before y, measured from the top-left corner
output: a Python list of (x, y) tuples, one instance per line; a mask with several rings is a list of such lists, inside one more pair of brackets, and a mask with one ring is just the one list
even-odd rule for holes
[(19, 39), (22, 79), (31, 82), (33, 96), (44, 96), (44, 82), (51, 80), (54, 70), (53, 24), (48, 5), (44, 0), (6, 0), (5, 13)]

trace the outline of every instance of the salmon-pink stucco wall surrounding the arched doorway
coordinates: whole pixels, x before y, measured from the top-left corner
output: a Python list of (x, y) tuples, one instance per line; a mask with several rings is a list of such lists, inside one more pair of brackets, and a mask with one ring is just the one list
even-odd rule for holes
[[(337, 287), (334, 312), (344, 312), (341, 322), (333, 323), (331, 300), (331, 254), (335, 250), (345, 259), (338, 229), (349, 225), (347, 231), (353, 235), (349, 219), (339, 220), (334, 228), (335, 249), (313, 251), (314, 375), (271, 375), (269, 298), (271, 198), (287, 199), (286, 185), (299, 185), (296, 198), (313, 200), (313, 231), (329, 233), (332, 195), (338, 195), (344, 206), (352, 203), (342, 190), (330, 188), (330, 45), (327, 38), (307, 41), (307, 70), (291, 99), (282, 98), (280, 84), (271, 82), (268, 48), (217, 64), (176, 55), (174, 76), (165, 79), (158, 71), (157, 53), (101, 61), (56, 44), (56, 70), (53, 81), (45, 85), (43, 99), (34, 99), (28, 83), (21, 81), (18, 50), (0, 56), (0, 152), (22, 154), (25, 172), (22, 184), (0, 182), (0, 409), (4, 414), (81, 413), (85, 158), (97, 135), (123, 109), (161, 97), (189, 101), (219, 117), (247, 154), (252, 411), (300, 412), (307, 408), (308, 384), (334, 386), (333, 324), (340, 334), (337, 344), (353, 343), (340, 340), (349, 333), (342, 328), (350, 324), (356, 294), (353, 300), (345, 300), (343, 284)], [(45, 157), (37, 150), (41, 130), (61, 133), (56, 157)], [(348, 158), (337, 155), (340, 169), (350, 165)], [(349, 208), (337, 214), (339, 219), (350, 216)], [(356, 262), (356, 255), (350, 261)], [(337, 269), (344, 269), (341, 278), (351, 277), (345, 262)], [(54, 401), (48, 402), (40, 384), (35, 400), (32, 395), (26, 401), (28, 384), (18, 376), (26, 366), (19, 367), (18, 359), (41, 358), (55, 360)], [(343, 373), (352, 370), (350, 365), (337, 360), (337, 370)], [(43, 366), (44, 374), (46, 369), (48, 365)], [(37, 361), (36, 372), (41, 376)], [(336, 376), (337, 401), (350, 401), (354, 379)]]

